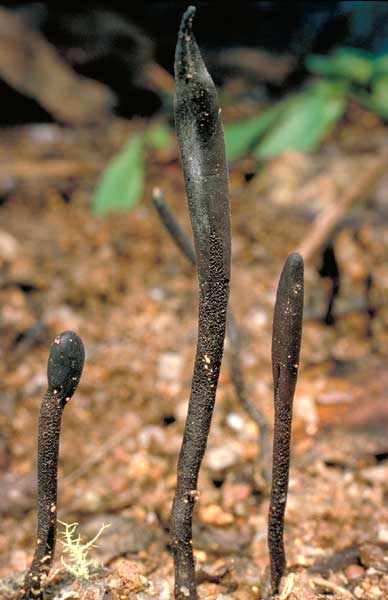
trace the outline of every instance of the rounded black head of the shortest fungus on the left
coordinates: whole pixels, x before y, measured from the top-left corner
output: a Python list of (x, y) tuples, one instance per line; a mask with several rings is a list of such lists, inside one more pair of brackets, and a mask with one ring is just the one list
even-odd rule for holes
[(84, 360), (84, 345), (74, 331), (58, 335), (51, 345), (47, 364), (49, 393), (64, 402), (70, 400), (81, 378)]

